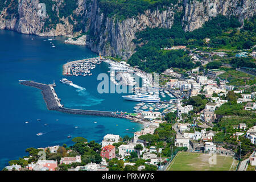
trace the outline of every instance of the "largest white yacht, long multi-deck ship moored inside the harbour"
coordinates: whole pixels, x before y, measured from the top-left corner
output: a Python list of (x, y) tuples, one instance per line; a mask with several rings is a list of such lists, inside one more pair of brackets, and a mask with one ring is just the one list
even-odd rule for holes
[(160, 98), (157, 95), (147, 94), (135, 94), (130, 96), (122, 96), (125, 100), (139, 101), (139, 102), (160, 102)]

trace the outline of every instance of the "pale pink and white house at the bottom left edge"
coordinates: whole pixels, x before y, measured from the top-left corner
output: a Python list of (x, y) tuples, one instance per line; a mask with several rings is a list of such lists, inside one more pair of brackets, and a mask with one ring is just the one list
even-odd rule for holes
[(28, 170), (33, 171), (55, 171), (58, 166), (57, 160), (38, 160), (38, 162), (28, 164)]

